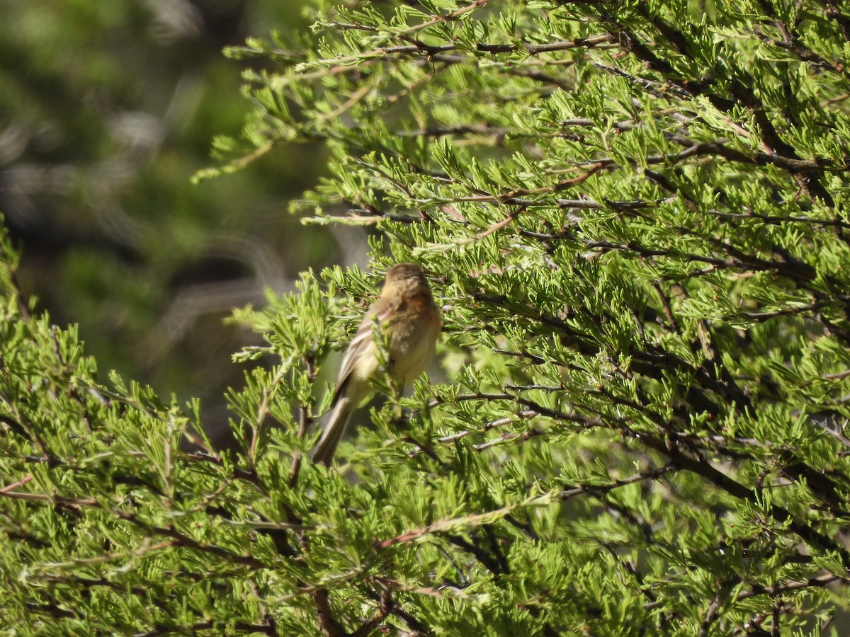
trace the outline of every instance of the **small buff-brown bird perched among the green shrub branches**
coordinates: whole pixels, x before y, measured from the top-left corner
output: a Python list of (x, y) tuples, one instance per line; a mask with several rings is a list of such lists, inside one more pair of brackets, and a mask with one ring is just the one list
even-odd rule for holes
[[(385, 367), (373, 333), (376, 324), (387, 344)], [(422, 269), (415, 263), (389, 268), (381, 296), (365, 313), (343, 356), (331, 420), (313, 448), (314, 462), (331, 465), (351, 414), (373, 391), (372, 379), (386, 372), (404, 390), (422, 374), (433, 358), (441, 328), (439, 308)]]

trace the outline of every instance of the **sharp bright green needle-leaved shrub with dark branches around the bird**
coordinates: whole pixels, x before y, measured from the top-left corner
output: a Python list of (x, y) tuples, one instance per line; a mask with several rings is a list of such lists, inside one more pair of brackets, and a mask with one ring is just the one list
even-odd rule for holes
[[(238, 360), (266, 366), (229, 393), (230, 454), (197, 405), (102, 386), (8, 265), (3, 617), (842, 634), (847, 8), (316, 3), (310, 34), (231, 51), (269, 64), (247, 74), (257, 150), (224, 170), (323, 142), (331, 177), (294, 207), (375, 228), (374, 273), (237, 313), (267, 342)], [(443, 304), (445, 380), (312, 465), (329, 352), (405, 260)]]

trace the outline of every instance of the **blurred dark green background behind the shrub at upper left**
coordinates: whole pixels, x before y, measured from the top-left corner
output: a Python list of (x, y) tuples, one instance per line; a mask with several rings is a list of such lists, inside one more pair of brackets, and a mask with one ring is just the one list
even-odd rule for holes
[(0, 14), (0, 212), (24, 293), (79, 324), (102, 378), (201, 397), (226, 429), (222, 393), (242, 384), (230, 354), (257, 338), (224, 324), (230, 310), (365, 245), (286, 211), (318, 177), (318, 146), (190, 183), (251, 108), (245, 63), (222, 48), (304, 28), (303, 0), (0, 0)]

